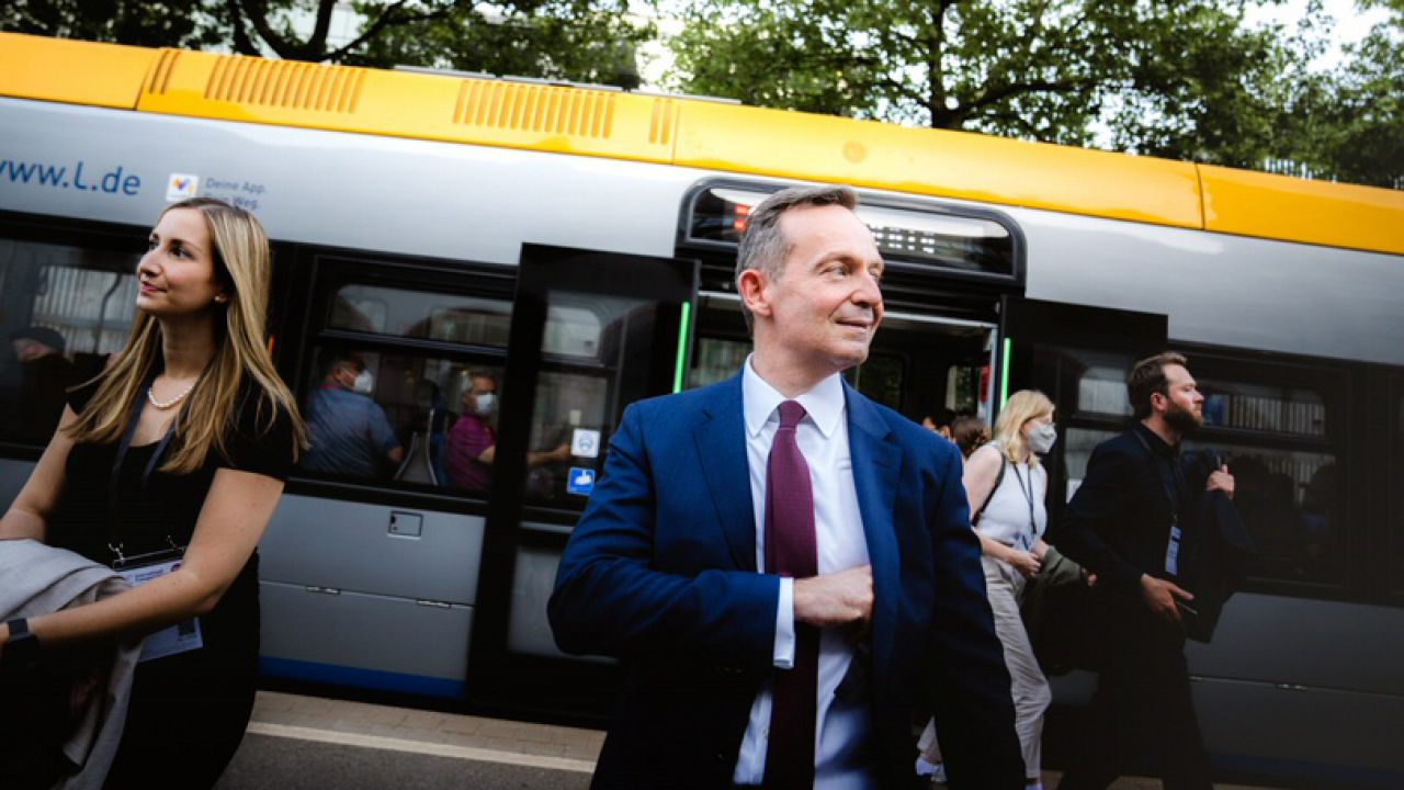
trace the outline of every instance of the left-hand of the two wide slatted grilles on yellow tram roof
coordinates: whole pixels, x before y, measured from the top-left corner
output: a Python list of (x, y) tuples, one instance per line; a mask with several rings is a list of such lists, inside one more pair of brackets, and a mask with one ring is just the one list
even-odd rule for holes
[[(348, 66), (222, 55), (205, 84), (205, 98), (319, 112), (355, 112), (364, 83), (365, 70)], [(163, 83), (161, 91), (164, 89)], [(154, 80), (152, 90), (156, 93)]]

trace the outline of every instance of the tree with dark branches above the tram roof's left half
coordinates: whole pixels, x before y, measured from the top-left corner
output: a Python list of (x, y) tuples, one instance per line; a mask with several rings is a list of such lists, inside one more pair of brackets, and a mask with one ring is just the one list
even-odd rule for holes
[(348, 42), (333, 41), (337, 0), (18, 0), (0, 30), (146, 46), (368, 66), (446, 66), (635, 87), (633, 48), (651, 25), (626, 0), (361, 0)]

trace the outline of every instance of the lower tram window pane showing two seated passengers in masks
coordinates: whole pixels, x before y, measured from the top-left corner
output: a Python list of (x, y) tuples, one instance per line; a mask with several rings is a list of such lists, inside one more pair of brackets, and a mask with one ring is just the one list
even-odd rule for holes
[(303, 471), (487, 495), (500, 367), (340, 344), (314, 357)]

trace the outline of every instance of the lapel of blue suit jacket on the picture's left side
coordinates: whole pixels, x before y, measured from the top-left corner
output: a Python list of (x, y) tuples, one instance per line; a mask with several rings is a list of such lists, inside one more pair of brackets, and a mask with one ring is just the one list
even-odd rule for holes
[(746, 455), (740, 374), (713, 392), (702, 406), (703, 419), (692, 429), (692, 436), (731, 558), (737, 568), (755, 571), (755, 510), (751, 503), (750, 460)]

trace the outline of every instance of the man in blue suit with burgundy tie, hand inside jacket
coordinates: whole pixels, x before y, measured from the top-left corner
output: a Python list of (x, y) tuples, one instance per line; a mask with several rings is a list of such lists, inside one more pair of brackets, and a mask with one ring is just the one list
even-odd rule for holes
[(883, 315), (855, 205), (758, 205), (754, 354), (611, 441), (549, 606), (562, 649), (628, 668), (594, 787), (908, 787), (920, 710), (953, 786), (1024, 786), (960, 455), (840, 375)]

